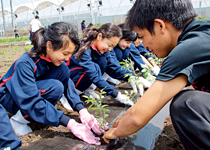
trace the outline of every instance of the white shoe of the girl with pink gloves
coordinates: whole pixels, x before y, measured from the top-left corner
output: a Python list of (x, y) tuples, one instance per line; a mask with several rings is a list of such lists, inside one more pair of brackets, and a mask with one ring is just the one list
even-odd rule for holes
[(10, 123), (17, 136), (23, 136), (32, 132), (31, 128), (27, 125), (30, 122), (23, 118), (20, 110), (18, 110), (18, 112), (10, 118)]

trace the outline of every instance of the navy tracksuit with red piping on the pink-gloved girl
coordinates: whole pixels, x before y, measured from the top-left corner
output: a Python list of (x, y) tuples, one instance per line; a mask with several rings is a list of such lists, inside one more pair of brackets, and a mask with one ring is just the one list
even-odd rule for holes
[(4, 109), (11, 114), (20, 110), (23, 117), (31, 122), (67, 126), (70, 118), (54, 106), (63, 92), (75, 110), (84, 108), (73, 82), (69, 80), (68, 67), (64, 63), (55, 66), (47, 58), (31, 58), (25, 52), (0, 80), (0, 141), (3, 141), (0, 147), (19, 149), (21, 145)]

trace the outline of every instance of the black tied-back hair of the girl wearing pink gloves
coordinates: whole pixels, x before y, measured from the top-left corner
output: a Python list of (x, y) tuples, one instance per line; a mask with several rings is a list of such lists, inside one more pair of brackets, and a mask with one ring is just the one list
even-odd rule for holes
[(67, 22), (56, 22), (48, 28), (40, 28), (32, 36), (34, 50), (28, 52), (30, 57), (46, 56), (46, 43), (50, 41), (54, 51), (62, 47), (68, 47), (69, 40), (76, 45), (75, 51), (79, 48), (78, 34), (73, 26)]

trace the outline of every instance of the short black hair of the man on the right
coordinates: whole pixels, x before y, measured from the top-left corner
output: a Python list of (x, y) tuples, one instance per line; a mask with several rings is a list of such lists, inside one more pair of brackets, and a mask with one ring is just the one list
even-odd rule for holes
[(126, 17), (126, 27), (146, 28), (154, 34), (154, 20), (158, 18), (182, 30), (196, 16), (190, 0), (136, 0)]

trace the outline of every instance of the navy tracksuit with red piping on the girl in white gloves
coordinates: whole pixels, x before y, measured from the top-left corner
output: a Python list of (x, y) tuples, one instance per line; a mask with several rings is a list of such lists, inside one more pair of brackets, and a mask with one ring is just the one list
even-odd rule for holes
[(93, 83), (100, 89), (106, 87), (104, 89), (106, 94), (114, 98), (117, 97), (118, 91), (102, 78), (103, 73), (106, 72), (113, 78), (125, 81), (128, 78), (124, 78), (124, 74), (130, 73), (121, 69), (119, 63), (112, 59), (110, 52), (101, 54), (94, 44), (82, 55), (80, 60), (73, 56), (66, 65), (70, 69), (70, 78), (73, 80), (75, 88), (84, 91)]

